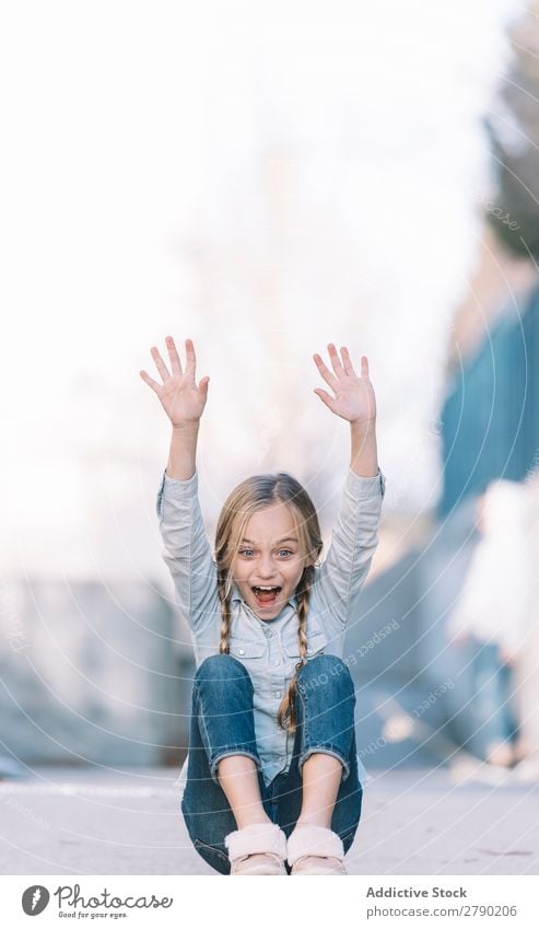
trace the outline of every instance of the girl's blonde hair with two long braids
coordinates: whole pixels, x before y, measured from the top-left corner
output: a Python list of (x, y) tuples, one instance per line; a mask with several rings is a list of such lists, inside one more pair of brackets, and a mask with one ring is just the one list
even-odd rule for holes
[[(276, 475), (254, 475), (232, 490), (221, 510), (215, 531), (218, 591), (221, 603), (221, 654), (229, 654), (230, 651), (233, 565), (239, 539), (243, 538), (247, 523), (255, 512), (279, 502), (284, 503), (292, 514), (304, 558), (316, 560), (321, 551), (323, 539), (315, 506), (305, 488), (290, 474), (281, 472)], [(296, 673), (277, 715), (279, 725), (290, 733), (293, 733), (297, 725), (297, 673), (307, 660), (307, 613), (314, 574), (314, 565), (305, 566), (295, 590), (301, 661), (296, 664)]]

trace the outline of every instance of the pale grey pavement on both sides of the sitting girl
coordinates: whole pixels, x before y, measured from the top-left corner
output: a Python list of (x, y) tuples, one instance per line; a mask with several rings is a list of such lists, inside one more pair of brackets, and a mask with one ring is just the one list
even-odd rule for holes
[[(0, 782), (2, 874), (207, 874), (177, 813), (173, 769), (40, 767)], [(539, 873), (537, 778), (461, 756), (372, 773), (353, 874)]]

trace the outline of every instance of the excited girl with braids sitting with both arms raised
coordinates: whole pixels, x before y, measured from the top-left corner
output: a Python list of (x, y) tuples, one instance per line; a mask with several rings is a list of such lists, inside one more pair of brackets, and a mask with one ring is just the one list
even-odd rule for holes
[(378, 538), (385, 477), (377, 464), (368, 363), (329, 345), (316, 388), (350, 422), (351, 463), (324, 564), (316, 510), (289, 474), (243, 480), (220, 514), (215, 560), (197, 493), (196, 452), (209, 378), (151, 353), (162, 383), (140, 375), (172, 423), (157, 496), (163, 557), (194, 637), (197, 671), (181, 812), (199, 855), (222, 874), (345, 874), (361, 813), (354, 687), (343, 635)]

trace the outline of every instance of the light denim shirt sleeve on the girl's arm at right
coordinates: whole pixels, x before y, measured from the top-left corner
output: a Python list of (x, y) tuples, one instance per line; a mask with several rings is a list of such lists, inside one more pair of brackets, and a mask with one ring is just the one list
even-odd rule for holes
[(378, 545), (386, 478), (360, 477), (349, 468), (331, 543), (318, 574), (318, 591), (328, 617), (344, 626), (358, 612), (361, 589)]

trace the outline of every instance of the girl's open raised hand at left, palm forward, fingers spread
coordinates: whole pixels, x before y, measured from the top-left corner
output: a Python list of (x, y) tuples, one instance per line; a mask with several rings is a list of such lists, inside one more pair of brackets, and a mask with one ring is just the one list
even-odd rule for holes
[(157, 394), (163, 409), (174, 428), (186, 426), (190, 422), (198, 422), (208, 399), (208, 384), (210, 379), (202, 378), (197, 387), (195, 381), (197, 358), (191, 339), (185, 340), (185, 373), (181, 371), (179, 355), (174, 345), (173, 337), (167, 336), (165, 341), (168, 349), (168, 358), (171, 359), (172, 374), (163, 361), (159, 349), (153, 346), (150, 351), (163, 383), (159, 384), (157, 381), (150, 378), (147, 371), (140, 371), (140, 376)]

